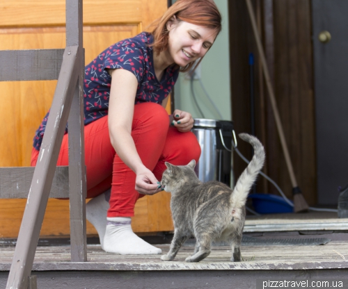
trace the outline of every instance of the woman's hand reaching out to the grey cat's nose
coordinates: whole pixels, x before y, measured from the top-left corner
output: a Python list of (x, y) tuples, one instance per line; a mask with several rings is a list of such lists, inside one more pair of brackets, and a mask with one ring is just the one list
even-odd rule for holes
[(136, 173), (135, 189), (139, 194), (143, 195), (155, 195), (163, 190), (161, 183), (157, 181), (155, 175), (146, 167), (143, 167)]

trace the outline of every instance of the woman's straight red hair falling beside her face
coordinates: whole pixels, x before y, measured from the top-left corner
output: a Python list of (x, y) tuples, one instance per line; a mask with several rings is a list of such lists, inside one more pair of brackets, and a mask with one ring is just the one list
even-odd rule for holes
[[(179, 21), (211, 28), (216, 31), (216, 35), (221, 31), (221, 14), (213, 0), (177, 0), (160, 19), (151, 25), (155, 26), (152, 31), (154, 42), (151, 46), (157, 54), (168, 47), (169, 31), (166, 24), (173, 16)], [(181, 67), (180, 71), (189, 71), (193, 64), (189, 63), (185, 67)]]

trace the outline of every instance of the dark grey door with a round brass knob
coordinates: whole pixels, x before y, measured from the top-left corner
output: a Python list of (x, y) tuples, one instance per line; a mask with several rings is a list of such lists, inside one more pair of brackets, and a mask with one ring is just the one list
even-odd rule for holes
[(335, 205), (348, 183), (348, 1), (313, 0), (312, 9), (318, 204)]

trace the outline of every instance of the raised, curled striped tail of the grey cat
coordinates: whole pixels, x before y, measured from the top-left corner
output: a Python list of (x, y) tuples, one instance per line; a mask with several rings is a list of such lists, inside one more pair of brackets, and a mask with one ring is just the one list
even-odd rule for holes
[(253, 183), (258, 176), (258, 173), (264, 165), (264, 147), (258, 138), (253, 135), (248, 135), (247, 133), (239, 133), (239, 138), (249, 142), (254, 149), (254, 155), (248, 167), (242, 172), (241, 176), (233, 189), (231, 195), (232, 206), (234, 208), (242, 208), (246, 203), (246, 198), (251, 190)]

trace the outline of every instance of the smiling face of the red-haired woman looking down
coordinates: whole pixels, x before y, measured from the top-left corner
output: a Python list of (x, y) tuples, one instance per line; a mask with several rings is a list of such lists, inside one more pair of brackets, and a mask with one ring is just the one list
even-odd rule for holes
[(212, 28), (177, 19), (169, 21), (167, 28), (169, 31), (168, 61), (181, 67), (205, 56), (216, 38), (216, 32)]

